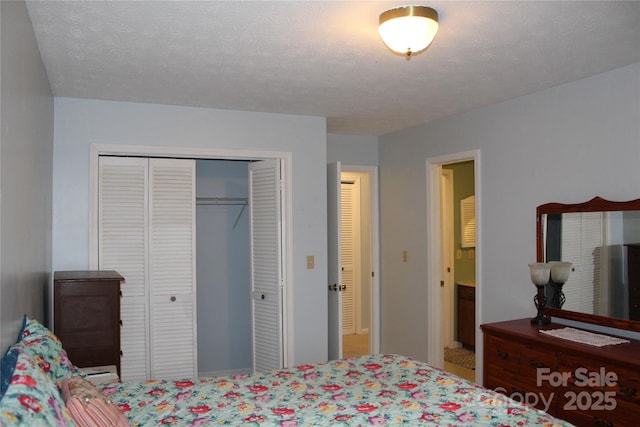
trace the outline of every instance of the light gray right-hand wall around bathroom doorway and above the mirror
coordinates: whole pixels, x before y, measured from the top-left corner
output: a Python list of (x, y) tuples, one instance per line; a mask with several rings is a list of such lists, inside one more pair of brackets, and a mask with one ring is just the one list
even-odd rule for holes
[(425, 159), (480, 150), (481, 321), (533, 317), (536, 206), (640, 197), (639, 118), (633, 64), (380, 137), (382, 350), (427, 358)]

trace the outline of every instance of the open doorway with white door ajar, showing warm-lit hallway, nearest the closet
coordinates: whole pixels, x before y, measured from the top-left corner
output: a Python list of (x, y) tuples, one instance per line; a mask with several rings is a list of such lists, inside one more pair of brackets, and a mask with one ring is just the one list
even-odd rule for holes
[(329, 359), (377, 353), (377, 169), (328, 170)]

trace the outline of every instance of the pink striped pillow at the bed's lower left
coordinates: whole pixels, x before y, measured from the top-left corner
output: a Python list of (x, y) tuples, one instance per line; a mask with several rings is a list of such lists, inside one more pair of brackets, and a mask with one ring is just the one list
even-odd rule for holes
[(78, 375), (62, 381), (62, 398), (71, 417), (80, 427), (125, 427), (127, 417), (93, 384)]

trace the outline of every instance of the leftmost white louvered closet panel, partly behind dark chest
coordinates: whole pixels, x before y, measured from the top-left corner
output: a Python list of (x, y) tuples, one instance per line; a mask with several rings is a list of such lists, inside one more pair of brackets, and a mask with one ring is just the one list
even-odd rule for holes
[(99, 158), (98, 268), (116, 270), (121, 285), (120, 333), (123, 381), (146, 379), (147, 159)]

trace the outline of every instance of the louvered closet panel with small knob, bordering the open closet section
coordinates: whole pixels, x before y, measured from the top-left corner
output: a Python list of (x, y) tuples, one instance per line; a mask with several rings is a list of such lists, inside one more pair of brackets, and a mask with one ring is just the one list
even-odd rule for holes
[(151, 377), (197, 376), (195, 161), (149, 159)]

